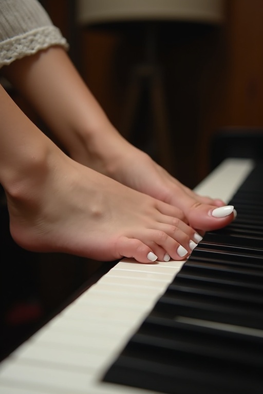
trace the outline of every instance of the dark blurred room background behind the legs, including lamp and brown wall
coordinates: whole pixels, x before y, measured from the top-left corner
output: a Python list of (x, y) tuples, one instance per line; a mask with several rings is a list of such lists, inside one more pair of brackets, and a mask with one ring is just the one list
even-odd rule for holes
[(110, 121), (187, 186), (218, 130), (261, 135), (262, 0), (41, 3)]

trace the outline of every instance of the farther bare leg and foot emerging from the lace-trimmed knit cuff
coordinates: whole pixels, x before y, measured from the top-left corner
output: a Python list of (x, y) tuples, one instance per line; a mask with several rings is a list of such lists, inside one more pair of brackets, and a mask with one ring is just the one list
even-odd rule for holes
[(67, 54), (50, 48), (5, 68), (6, 76), (35, 105), (72, 159), (124, 185), (179, 207), (199, 230), (228, 225), (233, 213), (215, 218), (224, 203), (193, 193), (130, 145), (110, 124)]

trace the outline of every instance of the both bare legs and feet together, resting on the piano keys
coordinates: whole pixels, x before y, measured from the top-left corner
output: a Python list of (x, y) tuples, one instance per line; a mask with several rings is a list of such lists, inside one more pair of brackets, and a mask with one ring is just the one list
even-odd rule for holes
[[(60, 47), (24, 57), (4, 75), (35, 107), (65, 148), (51, 142), (0, 90), (0, 182), (14, 240), (29, 250), (149, 263), (191, 253), (196, 229), (224, 203), (196, 195), (110, 124)], [(187, 252), (178, 254), (182, 246)]]

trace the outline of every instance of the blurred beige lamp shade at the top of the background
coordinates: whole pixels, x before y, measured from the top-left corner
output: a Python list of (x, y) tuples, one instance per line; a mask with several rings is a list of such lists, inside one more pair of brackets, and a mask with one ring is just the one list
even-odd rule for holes
[(223, 0), (78, 0), (82, 25), (132, 21), (187, 21), (220, 24)]

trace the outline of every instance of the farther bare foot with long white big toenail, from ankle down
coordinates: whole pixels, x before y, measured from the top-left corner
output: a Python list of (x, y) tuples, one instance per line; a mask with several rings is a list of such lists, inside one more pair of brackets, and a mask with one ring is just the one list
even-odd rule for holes
[(144, 152), (132, 146), (120, 149), (122, 151), (126, 153), (116, 156), (115, 165), (111, 163), (108, 167), (108, 175), (130, 188), (180, 208), (186, 223), (192, 228), (199, 232), (211, 231), (228, 225), (234, 219), (233, 207), (222, 208), (215, 217), (217, 211), (214, 210), (226, 206), (222, 200), (199, 196)]

